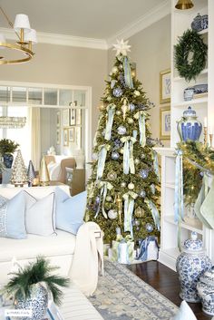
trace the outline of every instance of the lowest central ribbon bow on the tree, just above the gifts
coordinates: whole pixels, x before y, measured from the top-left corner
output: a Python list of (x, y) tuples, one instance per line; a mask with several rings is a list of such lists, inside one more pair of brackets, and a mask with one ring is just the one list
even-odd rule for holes
[(134, 209), (134, 200), (138, 198), (138, 194), (133, 191), (128, 191), (122, 198), (124, 199), (124, 231), (129, 231), (133, 237), (132, 230), (132, 214)]

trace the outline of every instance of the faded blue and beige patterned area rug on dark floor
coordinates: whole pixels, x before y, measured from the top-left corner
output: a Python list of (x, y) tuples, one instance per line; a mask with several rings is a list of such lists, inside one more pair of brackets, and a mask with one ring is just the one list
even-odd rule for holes
[(89, 299), (105, 320), (170, 320), (176, 314), (176, 305), (125, 266), (105, 260), (104, 269)]

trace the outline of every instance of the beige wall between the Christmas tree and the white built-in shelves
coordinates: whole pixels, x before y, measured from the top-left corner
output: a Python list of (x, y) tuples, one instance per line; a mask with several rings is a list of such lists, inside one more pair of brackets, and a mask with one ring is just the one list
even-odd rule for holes
[[(131, 36), (131, 61), (137, 64), (137, 78), (147, 96), (154, 102), (151, 111), (153, 138), (160, 137), (160, 71), (170, 68), (170, 15)], [(108, 70), (112, 69), (115, 51), (109, 50)], [(163, 104), (162, 104), (163, 106)], [(170, 146), (170, 141), (162, 141)]]

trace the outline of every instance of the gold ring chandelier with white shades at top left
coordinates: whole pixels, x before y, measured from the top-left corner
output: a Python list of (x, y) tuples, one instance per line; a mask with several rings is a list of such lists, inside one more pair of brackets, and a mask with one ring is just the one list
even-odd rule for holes
[[(8, 16), (5, 14), (5, 11), (0, 6), (2, 14), (5, 16), (6, 21), (11, 28), (14, 29), (15, 34), (18, 37), (16, 44), (7, 43), (5, 36), (0, 34), (0, 49), (8, 49), (13, 52), (21, 52), (22, 56), (18, 58), (5, 58), (0, 56), (0, 64), (16, 64), (16, 63), (26, 63), (31, 60), (34, 56), (32, 51), (32, 44), (37, 43), (36, 32), (34, 29), (31, 29), (29, 19), (27, 15), (16, 15), (15, 24), (9, 20)], [(1, 53), (3, 51), (1, 50)], [(2, 55), (2, 54), (1, 54)]]

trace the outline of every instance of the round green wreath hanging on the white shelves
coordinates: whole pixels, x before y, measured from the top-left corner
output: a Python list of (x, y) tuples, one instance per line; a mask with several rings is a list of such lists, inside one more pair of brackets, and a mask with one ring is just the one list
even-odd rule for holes
[[(192, 58), (190, 59), (190, 53)], [(187, 30), (179, 37), (179, 44), (175, 45), (175, 67), (180, 77), (187, 82), (196, 79), (197, 75), (205, 68), (208, 55), (208, 45), (204, 44), (199, 34)]]

